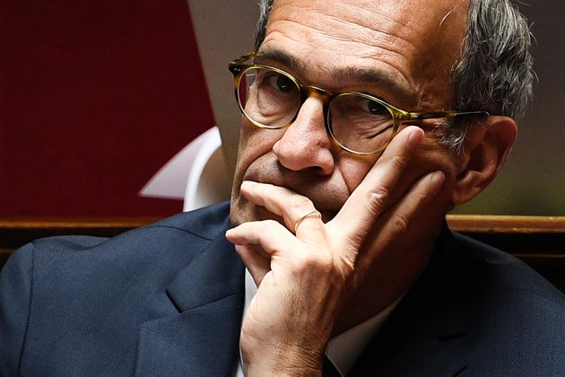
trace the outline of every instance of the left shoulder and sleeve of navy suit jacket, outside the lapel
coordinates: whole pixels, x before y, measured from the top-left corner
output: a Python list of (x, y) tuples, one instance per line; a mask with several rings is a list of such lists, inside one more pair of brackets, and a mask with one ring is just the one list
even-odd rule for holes
[(178, 315), (167, 288), (213, 249), (230, 224), (228, 209), (175, 215), (113, 238), (40, 239), (16, 251), (0, 274), (0, 375), (17, 375), (19, 365), (48, 365), (41, 373), (57, 375), (51, 360), (84, 366), (90, 358), (74, 356), (97, 345), (106, 370), (128, 370), (139, 324)]

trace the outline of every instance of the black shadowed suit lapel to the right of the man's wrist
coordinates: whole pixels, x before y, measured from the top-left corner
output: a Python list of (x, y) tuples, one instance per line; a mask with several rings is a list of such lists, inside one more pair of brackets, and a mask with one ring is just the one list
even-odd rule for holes
[(350, 375), (455, 376), (467, 369), (473, 311), (472, 261), (445, 231), (422, 276)]

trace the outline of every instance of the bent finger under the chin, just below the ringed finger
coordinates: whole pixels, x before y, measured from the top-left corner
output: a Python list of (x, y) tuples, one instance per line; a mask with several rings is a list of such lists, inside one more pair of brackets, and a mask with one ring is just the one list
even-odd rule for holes
[(295, 250), (300, 241), (274, 220), (243, 223), (226, 232), (226, 239), (236, 245), (259, 245), (269, 255)]

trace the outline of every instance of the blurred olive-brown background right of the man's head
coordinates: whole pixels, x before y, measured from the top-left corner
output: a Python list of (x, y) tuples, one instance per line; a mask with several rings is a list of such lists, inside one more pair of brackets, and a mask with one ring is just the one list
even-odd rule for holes
[(565, 215), (565, 2), (518, 5), (535, 37), (534, 103), (497, 180), (456, 213)]

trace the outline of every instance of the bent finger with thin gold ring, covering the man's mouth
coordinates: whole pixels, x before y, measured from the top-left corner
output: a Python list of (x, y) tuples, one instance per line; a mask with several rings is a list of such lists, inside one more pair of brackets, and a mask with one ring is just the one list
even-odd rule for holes
[(282, 217), (291, 232), (296, 232), (300, 224), (301, 240), (319, 241), (324, 237), (324, 223), (321, 215), (308, 197), (291, 189), (267, 183), (246, 180), (241, 184), (241, 193), (257, 206), (264, 206), (269, 212)]

